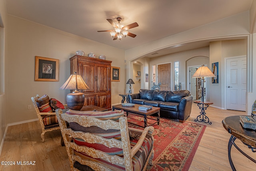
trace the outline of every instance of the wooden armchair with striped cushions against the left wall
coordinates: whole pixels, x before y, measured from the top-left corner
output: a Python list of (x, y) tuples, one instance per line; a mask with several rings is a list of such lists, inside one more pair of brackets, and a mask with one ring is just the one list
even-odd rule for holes
[[(36, 101), (38, 99), (39, 99), (38, 95), (36, 97), (31, 97), (32, 103), (36, 110), (36, 115), (39, 119), (39, 123), (42, 128), (41, 138), (42, 138), (42, 142), (44, 142), (44, 134), (48, 131), (60, 129), (60, 126), (58, 123), (58, 119), (56, 117), (56, 113), (52, 111), (52, 107), (50, 106), (49, 97), (44, 96), (42, 98), (42, 101), (46, 101), (46, 103), (44, 105), (42, 105), (41, 111), (40, 111), (40, 109), (38, 109), (38, 105), (36, 104)], [(64, 108), (68, 107), (67, 105), (63, 105), (63, 106), (64, 106)]]

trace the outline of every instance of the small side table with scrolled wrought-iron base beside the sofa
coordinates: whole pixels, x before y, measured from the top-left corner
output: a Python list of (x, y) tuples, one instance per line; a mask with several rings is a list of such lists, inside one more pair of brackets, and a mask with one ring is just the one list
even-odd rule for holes
[(202, 102), (202, 101), (193, 101), (193, 102), (197, 103), (199, 109), (201, 109), (200, 115), (198, 115), (196, 117), (195, 121), (212, 124), (212, 122), (210, 122), (210, 120), (209, 120), (209, 117), (206, 116), (205, 110), (207, 109), (207, 107), (209, 107), (209, 105), (211, 105), (213, 103), (210, 102), (210, 101), (204, 101), (204, 102)]

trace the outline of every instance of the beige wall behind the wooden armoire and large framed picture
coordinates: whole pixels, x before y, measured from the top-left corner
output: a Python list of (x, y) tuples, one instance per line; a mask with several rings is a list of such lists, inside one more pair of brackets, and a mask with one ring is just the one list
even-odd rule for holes
[[(7, 106), (8, 123), (35, 119), (30, 97), (49, 95), (66, 103), (69, 90), (60, 90), (70, 76), (69, 58), (77, 50), (85, 54), (104, 54), (112, 66), (120, 67), (120, 82), (112, 82), (112, 104), (118, 103), (118, 94), (124, 93), (124, 50), (94, 42), (28, 20), (8, 16)], [(35, 56), (59, 59), (59, 82), (34, 81)]]

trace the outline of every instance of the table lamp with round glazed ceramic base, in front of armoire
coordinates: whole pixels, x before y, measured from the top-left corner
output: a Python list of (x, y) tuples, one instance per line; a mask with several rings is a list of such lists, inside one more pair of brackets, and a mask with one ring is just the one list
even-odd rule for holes
[(72, 74), (68, 80), (60, 87), (60, 89), (72, 89), (72, 93), (67, 94), (66, 100), (68, 108), (72, 110), (80, 110), (84, 105), (84, 93), (80, 93), (79, 89), (89, 89), (84, 80), (76, 72)]

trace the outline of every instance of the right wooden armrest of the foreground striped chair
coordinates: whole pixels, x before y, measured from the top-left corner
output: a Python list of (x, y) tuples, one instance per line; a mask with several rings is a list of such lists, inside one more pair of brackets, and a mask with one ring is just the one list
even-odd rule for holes
[[(134, 129), (134, 128), (130, 128), (130, 130), (136, 130), (138, 131), (138, 129)], [(132, 147), (131, 149), (131, 155), (134, 156), (137, 151), (140, 149), (142, 143), (144, 142), (144, 139), (146, 137), (147, 134), (150, 134), (152, 136), (152, 133), (154, 132), (154, 127), (150, 126), (150, 127), (145, 127), (142, 134), (140, 135), (140, 139), (139, 141), (136, 143), (136, 145), (134, 147)]]

